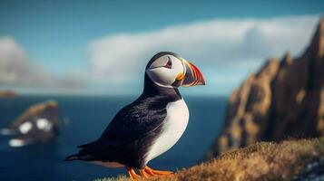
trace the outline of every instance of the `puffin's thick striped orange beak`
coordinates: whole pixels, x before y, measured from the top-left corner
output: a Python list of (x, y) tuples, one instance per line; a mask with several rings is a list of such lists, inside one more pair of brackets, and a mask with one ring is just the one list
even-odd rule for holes
[(183, 60), (183, 64), (185, 66), (185, 74), (182, 81), (183, 87), (205, 85), (201, 71), (194, 64), (186, 60)]

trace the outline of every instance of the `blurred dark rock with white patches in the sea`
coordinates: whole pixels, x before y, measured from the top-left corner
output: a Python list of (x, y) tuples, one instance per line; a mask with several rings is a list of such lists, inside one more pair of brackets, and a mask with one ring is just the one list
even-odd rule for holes
[(6, 130), (15, 134), (9, 140), (12, 147), (53, 140), (58, 135), (57, 103), (49, 100), (30, 107)]

